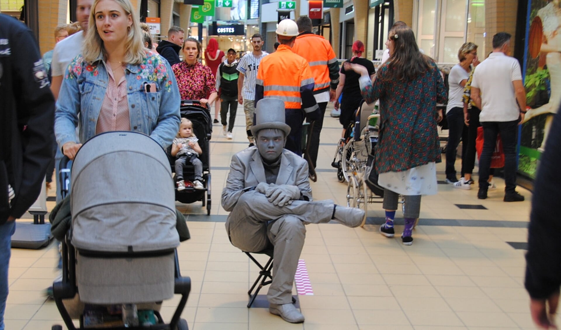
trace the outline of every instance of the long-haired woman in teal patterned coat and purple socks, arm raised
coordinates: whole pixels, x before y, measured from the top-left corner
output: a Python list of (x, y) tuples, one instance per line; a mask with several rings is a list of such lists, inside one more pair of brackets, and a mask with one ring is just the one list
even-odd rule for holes
[(386, 222), (380, 233), (394, 236), (393, 219), (399, 194), (405, 195), (405, 228), (402, 242), (413, 243), (413, 225), (419, 218), (421, 195), (436, 194), (436, 163), (440, 141), (436, 103), (445, 103), (444, 81), (436, 63), (420, 53), (415, 35), (407, 26), (389, 32), (390, 58), (370, 80), (366, 68), (344, 63), (345, 70), (361, 75), (362, 97), (367, 103), (380, 99), (380, 138), (376, 151), (378, 184), (384, 187)]

